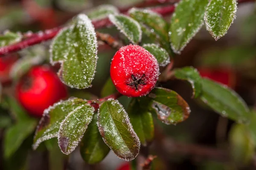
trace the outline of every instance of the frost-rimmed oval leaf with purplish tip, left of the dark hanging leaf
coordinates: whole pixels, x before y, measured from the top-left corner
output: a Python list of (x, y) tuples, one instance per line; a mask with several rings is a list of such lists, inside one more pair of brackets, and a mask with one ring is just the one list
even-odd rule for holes
[[(87, 108), (87, 106), (89, 106)], [(81, 109), (81, 111), (84, 111), (84, 109), (87, 109), (86, 110), (86, 113), (79, 113), (79, 110)], [(95, 109), (90, 106), (89, 104), (86, 104), (86, 105), (81, 105), (79, 107), (77, 107), (76, 109), (74, 109), (72, 112), (68, 113), (68, 115), (65, 117), (65, 119), (61, 122), (60, 124), (60, 127), (59, 127), (59, 131), (58, 131), (58, 146), (60, 147), (61, 149), (61, 152), (68, 155), (70, 154), (71, 152), (73, 152), (73, 150), (76, 149), (76, 147), (79, 145), (79, 142), (81, 142), (81, 139), (82, 137), (84, 136), (84, 132), (86, 131), (89, 123), (92, 121), (93, 119), (93, 113), (94, 113)], [(82, 121), (84, 121), (82, 124), (84, 125), (84, 128), (81, 127), (78, 131), (80, 132), (80, 130), (82, 130), (81, 134), (78, 134), (75, 136), (75, 134), (73, 133), (73, 136), (75, 136), (76, 140), (73, 140), (70, 142), (69, 138), (67, 137), (67, 135), (70, 137), (70, 133), (67, 132), (67, 131), (70, 131), (70, 129), (66, 129), (66, 127), (70, 127), (68, 126), (67, 124), (72, 124), (74, 125), (74, 121), (72, 120), (69, 120), (70, 118), (72, 119), (72, 116), (77, 116), (78, 114), (81, 114), (79, 115), (80, 116), (84, 116), (84, 119)], [(81, 121), (81, 119), (77, 120), (78, 118), (74, 118), (76, 119), (76, 121)], [(76, 124), (78, 125), (78, 124)], [(64, 136), (63, 134), (64, 133), (68, 133), (66, 134), (66, 136)], [(75, 133), (78, 133), (78, 132), (75, 132)], [(64, 139), (64, 137), (67, 137), (67, 139)], [(68, 141), (66, 141), (68, 140)], [(66, 143), (68, 142), (68, 143)], [(65, 147), (65, 148), (64, 148)], [(69, 148), (69, 149), (68, 149)]]

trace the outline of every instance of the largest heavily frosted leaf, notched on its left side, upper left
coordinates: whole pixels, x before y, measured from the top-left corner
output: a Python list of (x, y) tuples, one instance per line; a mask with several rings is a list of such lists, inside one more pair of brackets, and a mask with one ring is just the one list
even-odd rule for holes
[[(77, 28), (77, 26), (78, 26), (77, 23), (79, 23), (80, 26), (83, 24), (83, 26), (84, 26), (83, 30), (80, 30), (81, 28)], [(74, 24), (76, 24), (76, 25), (74, 25)], [(67, 46), (60, 47), (59, 46), (60, 45), (60, 43), (59, 43), (60, 41), (58, 41), (58, 39), (65, 39), (65, 44), (64, 45), (67, 45), (66, 42), (67, 42), (67, 40), (70, 40), (70, 37), (65, 37), (65, 35), (63, 35), (63, 34), (67, 34), (67, 32), (74, 31), (74, 29), (79, 29), (80, 32), (84, 31), (84, 29), (86, 29), (86, 31), (90, 31), (90, 33), (87, 34), (86, 36), (81, 37), (81, 35), (80, 35), (79, 38), (80, 38), (80, 42), (81, 42), (81, 39), (85, 39), (85, 38), (89, 37), (89, 35), (90, 35), (91, 36), (90, 38), (92, 38), (92, 45), (91, 46), (94, 48), (94, 49), (92, 49), (90, 51), (91, 52), (90, 54), (88, 54), (88, 51), (85, 51), (85, 52), (87, 52), (86, 53), (87, 54), (87, 56), (86, 56), (87, 60), (83, 60), (82, 62), (86, 62), (86, 61), (88, 61), (88, 59), (91, 59), (93, 57), (94, 57), (95, 60), (92, 61), (93, 63), (90, 63), (90, 65), (92, 65), (92, 64), (94, 65), (93, 69), (90, 71), (90, 72), (92, 72), (91, 75), (90, 75), (90, 78), (88, 78), (88, 74), (84, 75), (85, 74), (84, 71), (88, 71), (88, 70), (86, 70), (86, 69), (84, 70), (84, 68), (80, 67), (80, 69), (83, 69), (83, 70), (80, 70), (80, 72), (83, 72), (82, 73), (83, 74), (83, 79), (86, 80), (85, 82), (82, 82), (82, 84), (81, 84), (81, 77), (75, 83), (74, 82), (72, 82), (72, 83), (66, 82), (66, 81), (70, 81), (70, 79), (67, 79), (67, 78), (65, 78), (66, 80), (64, 80), (64, 77), (67, 77), (67, 76), (64, 76), (63, 72), (70, 69), (70, 68), (64, 69), (65, 67), (68, 67), (67, 64), (65, 64), (65, 63), (74, 60), (73, 58), (72, 59), (65, 59), (65, 57), (67, 57), (67, 55), (70, 54), (71, 50), (75, 50), (76, 51), (77, 48), (72, 48), (70, 51), (65, 51), (65, 54), (63, 54), (63, 51), (67, 48)], [(71, 35), (71, 39), (72, 39), (72, 35)], [(64, 38), (61, 37), (61, 36), (64, 36)], [(88, 38), (88, 39), (90, 39), (90, 38)], [(77, 39), (77, 37), (76, 37), (76, 39)], [(70, 45), (73, 45), (72, 42), (74, 41), (74, 39), (72, 39), (70, 41), (71, 41)], [(57, 47), (59, 49), (57, 51), (57, 55), (54, 56), (54, 48), (53, 48), (53, 46), (55, 46), (55, 42), (57, 43)], [(81, 49), (82, 50), (87, 50), (88, 49), (88, 47), (86, 47), (87, 44), (84, 44), (84, 43), (85, 42), (82, 42), (81, 44), (78, 45), (79, 46), (79, 52), (81, 52)], [(84, 46), (84, 48), (81, 48), (82, 46)], [(91, 87), (91, 82), (93, 81), (93, 78), (94, 78), (94, 75), (95, 75), (96, 64), (97, 64), (97, 59), (98, 59), (98, 57), (97, 57), (98, 49), (97, 48), (98, 48), (98, 43), (97, 43), (96, 32), (95, 32), (93, 24), (91, 23), (91, 21), (87, 17), (87, 15), (79, 14), (77, 16), (77, 18), (76, 18), (76, 22), (73, 22), (72, 26), (70, 26), (68, 28), (64, 28), (63, 30), (61, 30), (58, 33), (58, 35), (53, 39), (52, 44), (50, 45), (50, 50), (49, 50), (50, 51), (50, 63), (52, 65), (55, 65), (56, 63), (60, 63), (61, 64), (61, 68), (58, 71), (58, 76), (61, 79), (61, 82), (63, 82), (65, 85), (70, 86), (71, 88), (84, 89), (84, 88)], [(61, 51), (61, 52), (59, 52), (59, 51)], [(79, 54), (79, 53), (76, 52), (75, 54)], [(80, 55), (84, 56), (84, 54), (80, 54)], [(56, 58), (56, 59), (54, 59), (54, 58)], [(75, 63), (75, 64), (77, 64), (77, 63)], [(80, 61), (79, 65), (81, 66), (81, 65), (85, 65), (85, 64), (84, 63), (81, 64), (81, 61)], [(73, 68), (76, 68), (76, 67), (77, 67), (76, 65), (73, 65)], [(88, 67), (88, 65), (87, 65), (87, 67)], [(74, 74), (76, 74), (76, 73), (74, 73)], [(84, 76), (86, 78), (84, 78)], [(71, 79), (71, 80), (74, 81), (74, 79)]]

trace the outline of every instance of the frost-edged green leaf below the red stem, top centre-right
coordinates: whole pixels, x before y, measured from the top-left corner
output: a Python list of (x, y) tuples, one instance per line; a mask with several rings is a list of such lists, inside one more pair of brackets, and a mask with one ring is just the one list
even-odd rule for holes
[(128, 11), (128, 14), (140, 23), (143, 32), (148, 34), (149, 37), (154, 38), (154, 40), (157, 40), (169, 54), (172, 53), (168, 36), (169, 26), (162, 16), (151, 10), (137, 8), (132, 8)]

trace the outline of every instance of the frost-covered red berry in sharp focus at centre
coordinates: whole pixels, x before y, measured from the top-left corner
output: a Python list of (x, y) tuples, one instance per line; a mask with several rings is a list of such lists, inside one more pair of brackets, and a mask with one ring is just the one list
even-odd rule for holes
[(147, 95), (159, 77), (157, 59), (139, 45), (127, 45), (114, 55), (110, 76), (116, 89), (123, 95)]

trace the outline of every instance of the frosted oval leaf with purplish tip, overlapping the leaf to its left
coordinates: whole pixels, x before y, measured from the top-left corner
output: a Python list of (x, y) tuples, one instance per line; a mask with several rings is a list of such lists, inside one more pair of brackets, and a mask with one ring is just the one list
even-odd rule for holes
[(93, 119), (94, 108), (90, 105), (80, 105), (61, 122), (58, 131), (58, 145), (61, 151), (68, 155), (76, 149), (87, 126)]

